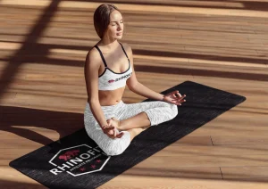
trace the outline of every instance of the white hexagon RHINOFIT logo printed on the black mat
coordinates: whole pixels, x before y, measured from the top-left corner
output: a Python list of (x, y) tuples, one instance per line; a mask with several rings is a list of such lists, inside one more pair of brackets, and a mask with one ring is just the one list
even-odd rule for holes
[(73, 177), (100, 171), (110, 159), (98, 146), (81, 144), (57, 152), (49, 163), (55, 168), (49, 170), (57, 176), (63, 172)]

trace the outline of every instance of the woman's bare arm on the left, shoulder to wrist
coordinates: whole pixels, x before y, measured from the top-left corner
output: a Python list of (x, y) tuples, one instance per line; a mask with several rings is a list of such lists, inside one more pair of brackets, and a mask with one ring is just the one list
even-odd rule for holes
[(104, 127), (107, 125), (105, 115), (101, 109), (98, 99), (98, 69), (100, 68), (100, 59), (97, 57), (96, 49), (88, 52), (84, 73), (88, 93), (88, 103), (98, 125)]

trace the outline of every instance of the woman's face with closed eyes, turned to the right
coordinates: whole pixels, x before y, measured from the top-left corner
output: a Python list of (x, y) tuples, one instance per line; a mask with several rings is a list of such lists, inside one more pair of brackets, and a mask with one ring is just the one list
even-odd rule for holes
[(107, 28), (107, 35), (114, 39), (121, 39), (124, 29), (124, 23), (122, 20), (121, 13), (114, 10), (110, 14), (110, 24)]

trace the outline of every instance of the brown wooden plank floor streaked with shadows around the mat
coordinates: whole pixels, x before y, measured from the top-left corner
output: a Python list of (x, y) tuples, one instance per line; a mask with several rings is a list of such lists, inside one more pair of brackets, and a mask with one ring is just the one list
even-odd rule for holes
[[(1, 188), (46, 188), (9, 162), (83, 127), (84, 60), (99, 40), (90, 2), (0, 0)], [(247, 101), (99, 188), (268, 188), (268, 2), (133, 2), (113, 1), (142, 84), (191, 80)]]

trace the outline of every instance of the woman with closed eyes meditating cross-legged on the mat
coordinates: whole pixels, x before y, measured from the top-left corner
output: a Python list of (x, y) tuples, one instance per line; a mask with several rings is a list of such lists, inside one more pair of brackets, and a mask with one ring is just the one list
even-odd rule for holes
[[(185, 102), (186, 95), (179, 91), (158, 94), (138, 82), (130, 45), (118, 41), (124, 28), (117, 7), (100, 5), (94, 13), (94, 26), (101, 40), (88, 52), (85, 62), (85, 128), (107, 155), (119, 155), (147, 127), (176, 117), (177, 105)], [(157, 101), (123, 103), (126, 85), (132, 92)]]

